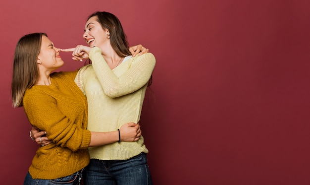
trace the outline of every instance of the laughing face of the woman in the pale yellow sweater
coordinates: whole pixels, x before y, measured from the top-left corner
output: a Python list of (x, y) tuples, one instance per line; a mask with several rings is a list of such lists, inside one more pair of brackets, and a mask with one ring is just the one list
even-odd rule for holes
[(100, 47), (108, 42), (108, 30), (103, 30), (101, 24), (97, 21), (97, 16), (91, 17), (85, 24), (83, 38), (86, 43), (93, 48)]

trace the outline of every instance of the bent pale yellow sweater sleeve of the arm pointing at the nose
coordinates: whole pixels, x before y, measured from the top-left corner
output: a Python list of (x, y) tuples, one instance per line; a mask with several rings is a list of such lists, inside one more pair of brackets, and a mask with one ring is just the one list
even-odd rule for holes
[(154, 55), (143, 54), (134, 57), (129, 68), (117, 77), (105, 62), (100, 48), (92, 48), (89, 57), (104, 94), (110, 98), (120, 97), (142, 88), (150, 80), (155, 67)]

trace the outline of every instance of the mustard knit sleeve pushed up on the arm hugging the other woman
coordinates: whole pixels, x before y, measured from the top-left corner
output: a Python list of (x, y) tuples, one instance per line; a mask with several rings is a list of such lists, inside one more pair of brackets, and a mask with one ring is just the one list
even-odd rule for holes
[[(91, 140), (89, 130), (84, 130), (64, 115), (52, 96), (31, 90), (25, 93), (23, 106), (29, 122), (48, 133), (48, 138), (56, 145), (67, 147), (72, 151), (86, 149)], [(82, 121), (82, 120), (81, 120)]]

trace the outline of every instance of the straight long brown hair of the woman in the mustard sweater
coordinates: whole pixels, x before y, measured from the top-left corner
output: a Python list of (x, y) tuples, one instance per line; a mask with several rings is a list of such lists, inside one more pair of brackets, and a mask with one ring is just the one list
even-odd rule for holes
[(23, 97), (27, 88), (36, 84), (39, 78), (37, 64), (42, 36), (46, 33), (31, 33), (19, 39), (15, 48), (11, 95), (13, 107), (23, 106)]

